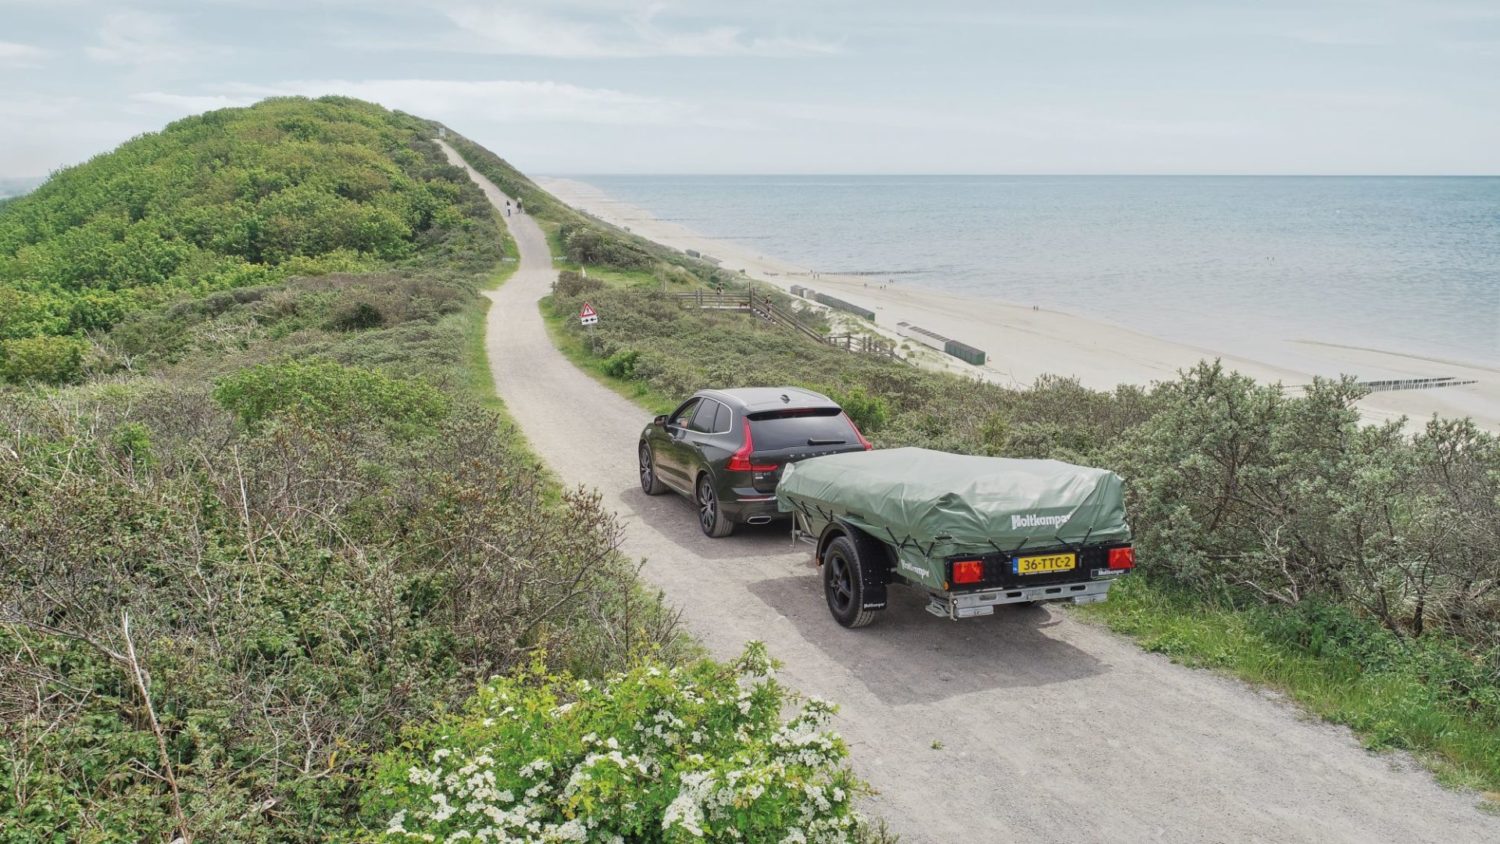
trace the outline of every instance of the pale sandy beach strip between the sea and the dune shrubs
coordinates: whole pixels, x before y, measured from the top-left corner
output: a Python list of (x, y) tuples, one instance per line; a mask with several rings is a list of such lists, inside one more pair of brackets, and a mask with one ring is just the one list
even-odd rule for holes
[(946, 355), (922, 354), (920, 357), (926, 366), (1017, 387), (1024, 387), (1047, 373), (1066, 375), (1096, 390), (1170, 379), (1198, 360), (1215, 357), (1232, 369), (1288, 388), (1311, 382), (1314, 375), (1336, 372), (1353, 373), (1362, 379), (1449, 376), (1474, 384), (1372, 393), (1359, 403), (1360, 411), (1368, 421), (1406, 415), (1420, 423), (1432, 414), (1472, 417), (1490, 430), (1500, 430), (1497, 367), (1316, 340), (1304, 343), (1310, 357), (1318, 360), (1324, 369), (1312, 372), (1270, 366), (1058, 310), (1034, 309), (996, 298), (952, 295), (900, 283), (880, 283), (856, 276), (818, 273), (813, 267), (798, 267), (776, 256), (759, 255), (742, 243), (706, 238), (682, 225), (658, 220), (648, 211), (614, 199), (582, 181), (537, 178), (537, 183), (580, 211), (663, 246), (693, 249), (712, 256), (726, 270), (744, 270), (748, 277), (783, 289), (790, 285), (810, 286), (874, 310), (874, 327), (888, 337), (902, 340), (897, 324), (910, 322), (988, 352), (988, 363), (982, 367)]

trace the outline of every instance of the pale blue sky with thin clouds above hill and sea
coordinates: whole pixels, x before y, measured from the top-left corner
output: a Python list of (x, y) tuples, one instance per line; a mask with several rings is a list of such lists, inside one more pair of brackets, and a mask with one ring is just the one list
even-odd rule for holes
[(276, 94), (534, 174), (1500, 174), (1500, 0), (0, 0), (0, 177)]

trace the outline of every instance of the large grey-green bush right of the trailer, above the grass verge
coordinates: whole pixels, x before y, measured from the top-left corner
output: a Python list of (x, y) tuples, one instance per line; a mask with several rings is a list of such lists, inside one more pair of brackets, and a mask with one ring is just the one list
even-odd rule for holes
[[(1198, 364), (1112, 463), (1130, 480), (1144, 565), (1272, 603), (1350, 603), (1392, 633), (1432, 622), (1486, 648), (1500, 601), (1500, 444), (1472, 424), (1360, 426), (1352, 379), (1305, 396)], [(1479, 619), (1490, 619), (1480, 622)]]

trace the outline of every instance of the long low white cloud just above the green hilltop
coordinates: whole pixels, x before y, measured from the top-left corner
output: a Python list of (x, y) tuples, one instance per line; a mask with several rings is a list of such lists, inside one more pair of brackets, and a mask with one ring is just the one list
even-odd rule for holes
[(610, 88), (584, 88), (550, 81), (452, 79), (306, 79), (272, 85), (228, 84), (212, 94), (147, 91), (130, 99), (176, 112), (249, 105), (268, 96), (344, 94), (378, 102), (423, 117), (460, 120), (483, 117), (498, 123), (710, 123), (693, 106), (669, 99)]

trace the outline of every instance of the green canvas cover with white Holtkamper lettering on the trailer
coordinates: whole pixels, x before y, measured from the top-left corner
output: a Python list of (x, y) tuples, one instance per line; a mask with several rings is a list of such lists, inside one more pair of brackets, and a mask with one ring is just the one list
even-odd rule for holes
[(783, 513), (842, 519), (909, 558), (1130, 541), (1119, 475), (1060, 460), (927, 448), (849, 451), (789, 463)]

